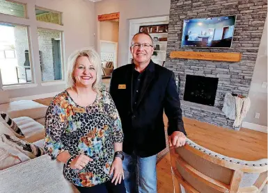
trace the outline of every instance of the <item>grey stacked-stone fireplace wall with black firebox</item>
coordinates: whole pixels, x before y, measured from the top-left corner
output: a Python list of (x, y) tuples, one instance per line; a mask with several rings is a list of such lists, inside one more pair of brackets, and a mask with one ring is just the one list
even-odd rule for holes
[[(225, 15), (237, 15), (230, 49), (181, 47), (184, 19)], [(266, 0), (171, 0), (166, 67), (180, 77), (180, 100), (185, 117), (232, 128), (233, 121), (221, 111), (223, 99), (227, 92), (248, 96), (266, 17)], [(235, 52), (242, 53), (242, 59), (221, 62), (170, 58), (171, 51)]]

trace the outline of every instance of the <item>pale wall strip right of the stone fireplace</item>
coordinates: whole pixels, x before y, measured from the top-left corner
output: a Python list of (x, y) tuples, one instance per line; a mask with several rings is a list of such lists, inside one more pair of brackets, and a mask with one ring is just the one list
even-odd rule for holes
[[(251, 108), (246, 115), (246, 119), (244, 119), (244, 121), (249, 123), (267, 126), (267, 87), (263, 88), (262, 82), (267, 82), (267, 19), (262, 32), (262, 39), (249, 90)], [(259, 119), (255, 118), (255, 112), (260, 113)]]

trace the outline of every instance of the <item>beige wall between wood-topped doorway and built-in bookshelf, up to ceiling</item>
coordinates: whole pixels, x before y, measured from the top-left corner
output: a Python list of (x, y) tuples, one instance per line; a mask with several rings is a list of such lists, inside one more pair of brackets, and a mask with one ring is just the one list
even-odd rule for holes
[[(95, 3), (96, 18), (97, 15), (120, 12), (118, 67), (128, 62), (129, 19), (169, 15), (170, 6), (171, 0), (102, 0)], [(98, 26), (100, 27), (100, 24), (96, 25), (96, 33)], [(100, 36), (96, 38), (96, 48), (98, 40)]]

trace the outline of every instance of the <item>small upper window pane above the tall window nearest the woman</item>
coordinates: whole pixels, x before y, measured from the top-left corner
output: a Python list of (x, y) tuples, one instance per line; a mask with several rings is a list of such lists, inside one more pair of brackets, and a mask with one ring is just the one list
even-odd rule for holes
[(61, 13), (36, 8), (36, 20), (61, 25)]

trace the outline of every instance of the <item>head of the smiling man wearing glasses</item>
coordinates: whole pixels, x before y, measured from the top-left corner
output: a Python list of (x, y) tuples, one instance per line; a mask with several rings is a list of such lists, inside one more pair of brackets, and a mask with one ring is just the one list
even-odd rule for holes
[(132, 47), (130, 47), (130, 51), (135, 63), (146, 63), (150, 61), (152, 53), (154, 51), (152, 40), (148, 35), (136, 35), (132, 41)]

